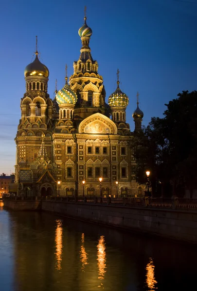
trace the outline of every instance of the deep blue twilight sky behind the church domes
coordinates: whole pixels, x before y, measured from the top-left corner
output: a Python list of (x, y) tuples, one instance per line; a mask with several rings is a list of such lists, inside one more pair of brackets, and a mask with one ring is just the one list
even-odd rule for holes
[[(187, 0), (186, 0), (187, 1)], [(197, 2), (197, 0), (188, 0)], [(132, 113), (140, 94), (143, 125), (162, 117), (164, 103), (182, 90), (197, 90), (197, 4), (178, 0), (7, 0), (1, 2), (0, 173), (14, 172), (14, 138), (25, 93), (24, 68), (34, 58), (38, 36), (40, 61), (50, 71), (48, 93), (64, 85), (73, 61), (80, 55), (78, 29), (87, 24), (92, 57), (103, 76), (106, 100), (120, 88), (129, 97), (126, 120), (134, 129)]]

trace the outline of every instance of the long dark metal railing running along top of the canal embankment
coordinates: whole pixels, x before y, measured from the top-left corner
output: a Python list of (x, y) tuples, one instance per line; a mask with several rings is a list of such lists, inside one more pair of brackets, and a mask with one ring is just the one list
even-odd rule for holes
[(188, 198), (149, 198), (149, 197), (101, 197), (101, 196), (34, 196), (34, 197), (4, 197), (3, 200), (15, 201), (52, 201), (61, 203), (91, 203), (98, 205), (111, 205), (111, 206), (126, 206), (134, 208), (155, 208), (155, 209), (178, 209), (178, 210), (197, 210), (197, 199)]

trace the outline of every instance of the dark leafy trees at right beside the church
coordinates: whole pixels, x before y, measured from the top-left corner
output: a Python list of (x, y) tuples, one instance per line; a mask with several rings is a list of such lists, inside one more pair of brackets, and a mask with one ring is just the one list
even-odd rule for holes
[(197, 91), (183, 91), (165, 105), (163, 118), (151, 118), (148, 126), (135, 134), (136, 178), (146, 183), (148, 169), (154, 195), (161, 194), (156, 193), (161, 188), (159, 182), (170, 183), (178, 196), (185, 188), (192, 194), (197, 189)]

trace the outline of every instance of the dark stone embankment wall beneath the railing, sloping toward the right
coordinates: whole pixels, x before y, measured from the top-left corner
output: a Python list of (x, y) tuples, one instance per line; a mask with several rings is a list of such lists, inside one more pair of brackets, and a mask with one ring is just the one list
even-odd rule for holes
[(42, 210), (121, 229), (197, 243), (197, 211), (42, 201)]

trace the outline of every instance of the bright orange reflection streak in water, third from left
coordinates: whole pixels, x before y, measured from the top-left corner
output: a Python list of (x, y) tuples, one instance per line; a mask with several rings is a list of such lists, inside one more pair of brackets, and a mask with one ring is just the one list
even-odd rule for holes
[(97, 260), (98, 260), (98, 279), (104, 279), (106, 273), (106, 246), (105, 238), (102, 235), (97, 244)]

